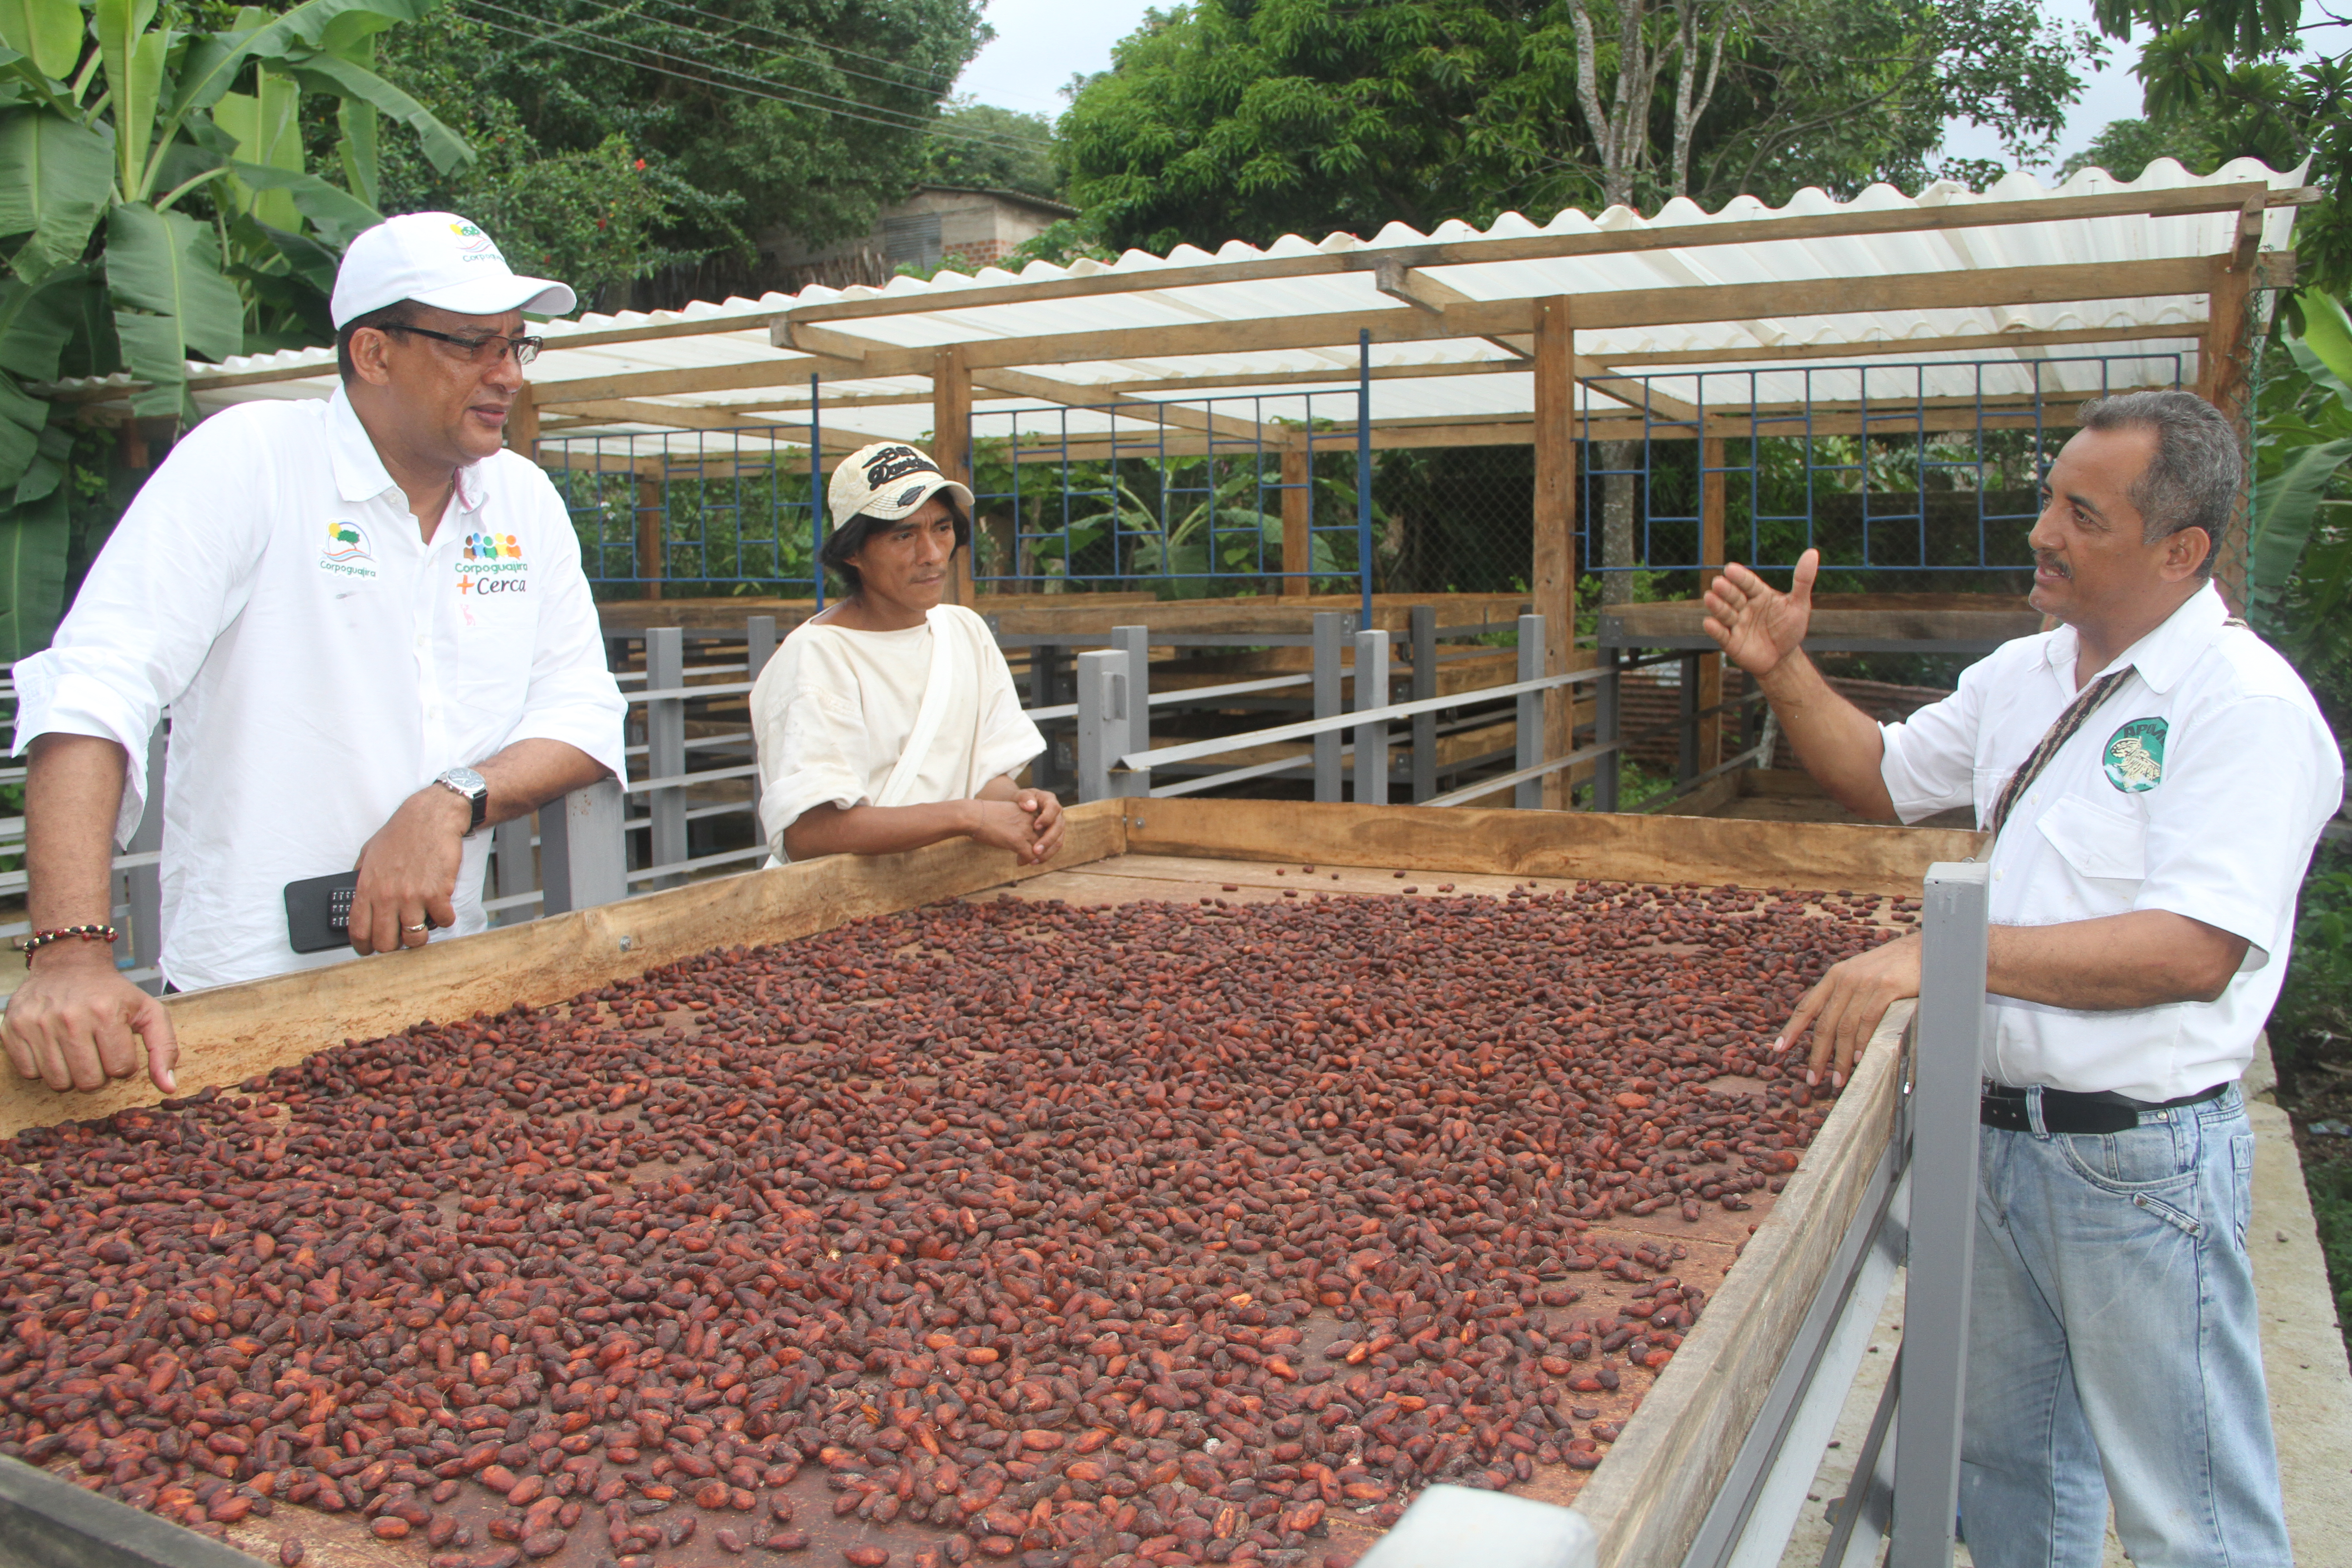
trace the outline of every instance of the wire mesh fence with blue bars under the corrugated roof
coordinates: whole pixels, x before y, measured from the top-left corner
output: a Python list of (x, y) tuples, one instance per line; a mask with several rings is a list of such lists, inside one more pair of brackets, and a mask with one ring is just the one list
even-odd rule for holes
[[(1712, 505), (1722, 557), (1788, 569), (1818, 548), (1832, 592), (2023, 592), (2042, 470), (2072, 404), (2180, 386), (2183, 362), (2140, 350), (1597, 378), (1642, 421), (1578, 442), (1578, 574), (1606, 599), (1698, 592)], [(2246, 374), (2220, 386), (2251, 397)], [(1164, 599), (1524, 590), (1534, 449), (1374, 451), (1367, 505), (1362, 397), (983, 409), (974, 576), (983, 592)], [(1712, 435), (1726, 416), (1736, 433)], [(654, 454), (642, 442), (541, 444), (602, 592), (821, 595), (807, 447), (774, 428), (673, 433)], [(2241, 557), (2244, 529), (2227, 548)]]

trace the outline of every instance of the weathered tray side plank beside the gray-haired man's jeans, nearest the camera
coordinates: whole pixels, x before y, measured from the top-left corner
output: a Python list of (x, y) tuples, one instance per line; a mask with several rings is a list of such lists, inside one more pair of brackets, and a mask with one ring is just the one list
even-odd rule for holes
[(1679, 1563), (1691, 1549), (1893, 1138), (1912, 1009), (1886, 1011), (1804, 1164), (1578, 1493), (1599, 1568)]

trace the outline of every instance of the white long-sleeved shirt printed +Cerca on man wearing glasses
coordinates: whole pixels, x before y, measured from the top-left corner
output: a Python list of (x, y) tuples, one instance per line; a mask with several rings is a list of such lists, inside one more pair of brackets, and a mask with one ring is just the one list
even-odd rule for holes
[[(285, 884), (348, 872), (442, 769), (564, 741), (621, 776), (581, 545), (555, 487), (501, 451), (459, 470), (419, 538), (341, 388), (191, 430), (89, 569), (54, 644), (16, 665), (16, 750), (122, 743), (118, 842), (165, 762), (162, 973), (226, 985), (350, 959), (296, 954)], [(454, 936), (480, 931), (489, 835), (466, 839)]]

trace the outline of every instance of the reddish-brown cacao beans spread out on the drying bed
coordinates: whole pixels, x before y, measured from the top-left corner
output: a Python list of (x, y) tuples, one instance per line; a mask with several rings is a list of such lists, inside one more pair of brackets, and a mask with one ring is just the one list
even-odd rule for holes
[(1764, 1044), (1917, 905), (1291, 875), (7, 1140), (0, 1453), (329, 1568), (1319, 1568), (1430, 1481), (1566, 1500), (1820, 1126)]

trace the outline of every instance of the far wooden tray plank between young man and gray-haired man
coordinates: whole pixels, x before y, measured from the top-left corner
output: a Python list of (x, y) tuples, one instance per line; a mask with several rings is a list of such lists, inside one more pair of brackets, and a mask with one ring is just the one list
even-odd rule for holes
[(1185, 797), (1131, 804), (1134, 853), (1418, 872), (1917, 896), (1929, 865), (1983, 851), (1978, 835), (1952, 827)]

